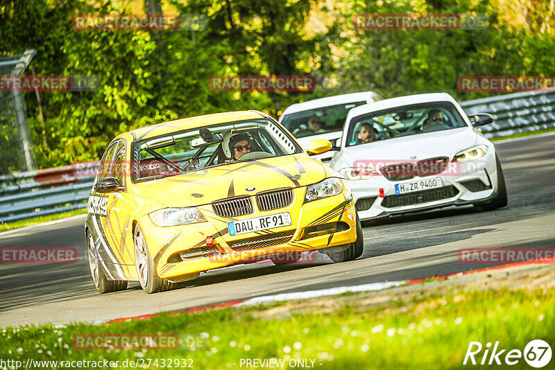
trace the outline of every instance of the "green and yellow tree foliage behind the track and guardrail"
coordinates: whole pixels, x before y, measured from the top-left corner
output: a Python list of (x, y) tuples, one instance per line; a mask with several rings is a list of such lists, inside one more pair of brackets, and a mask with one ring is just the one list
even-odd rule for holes
[[(71, 18), (129, 11), (119, 2), (0, 0), (0, 55), (37, 49), (31, 66), (39, 75), (99, 79), (95, 91), (41, 93), (44, 120), (35, 93), (24, 93), (37, 165), (47, 168), (99, 159), (119, 132), (180, 117), (239, 109), (278, 116), (301, 100), (364, 90), (386, 98), (446, 91), (466, 100), (487, 94), (461, 93), (459, 76), (555, 74), (547, 3), (531, 4), (528, 26), (518, 28), (502, 20), (509, 10), (495, 1), (168, 0), (181, 14), (204, 15), (206, 27), (108, 32), (76, 30)], [(373, 12), (481, 13), (490, 24), (355, 30), (352, 15)], [(320, 85), (286, 93), (208, 84), (210, 76), (259, 74), (310, 74)]]

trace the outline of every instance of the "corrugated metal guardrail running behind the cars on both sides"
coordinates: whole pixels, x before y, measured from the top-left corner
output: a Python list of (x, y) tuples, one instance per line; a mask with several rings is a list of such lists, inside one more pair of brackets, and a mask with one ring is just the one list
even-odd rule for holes
[[(505, 94), (460, 103), (469, 116), (493, 114), (485, 136), (555, 127), (555, 90)], [(86, 208), (99, 161), (0, 176), (0, 222)]]

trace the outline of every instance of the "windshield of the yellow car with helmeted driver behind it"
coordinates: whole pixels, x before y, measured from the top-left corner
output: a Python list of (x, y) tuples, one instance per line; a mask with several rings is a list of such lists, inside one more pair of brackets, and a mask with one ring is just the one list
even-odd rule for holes
[(137, 141), (134, 150), (135, 182), (302, 152), (289, 134), (269, 120), (223, 123), (173, 132)]

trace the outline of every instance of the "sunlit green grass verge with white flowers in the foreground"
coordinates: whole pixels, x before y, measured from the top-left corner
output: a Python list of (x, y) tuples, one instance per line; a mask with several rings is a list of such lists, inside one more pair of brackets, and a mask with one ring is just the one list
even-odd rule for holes
[[(125, 360), (139, 361), (138, 367), (150, 361), (151, 369), (160, 368), (164, 359), (166, 364), (169, 360), (192, 363), (195, 369), (239, 369), (241, 359), (255, 358), (282, 360), (283, 367), (274, 367), (280, 369), (293, 368), (292, 360), (305, 360), (318, 369), (457, 369), (464, 367), (471, 341), (484, 346), (499, 341), (499, 349), (507, 349), (505, 354), (511, 349), (524, 351), (531, 340), (555, 344), (553, 286), (533, 290), (484, 284), (475, 289), (412, 287), (395, 294), (326, 297), (305, 308), (307, 301), (298, 301), (163, 314), (98, 326), (8, 328), (0, 335), (0, 358), (23, 363), (28, 358), (105, 359), (118, 361), (118, 367)], [(293, 309), (291, 304), (297, 306)], [(204, 345), (196, 342), (178, 350), (74, 348), (74, 335), (92, 333), (192, 335), (200, 336)], [(483, 354), (484, 350), (476, 356), (478, 361)], [(244, 363), (242, 367), (246, 368)], [(530, 367), (521, 358), (512, 368)]]

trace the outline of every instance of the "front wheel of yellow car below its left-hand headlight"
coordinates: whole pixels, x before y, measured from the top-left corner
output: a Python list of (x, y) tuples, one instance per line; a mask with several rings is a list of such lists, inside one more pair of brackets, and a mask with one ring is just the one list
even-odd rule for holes
[(172, 283), (158, 276), (151, 252), (146, 247), (144, 233), (139, 224), (133, 231), (133, 249), (135, 249), (135, 267), (137, 268), (139, 283), (145, 292), (151, 294), (176, 288), (178, 283)]

